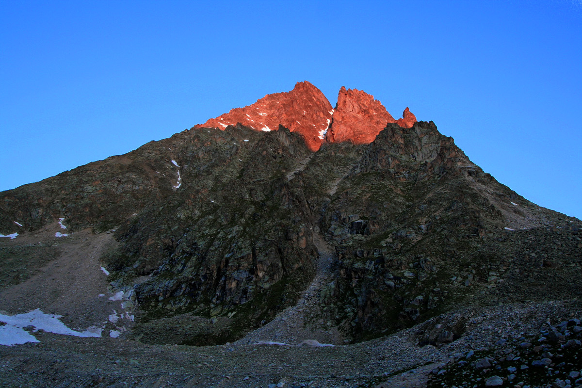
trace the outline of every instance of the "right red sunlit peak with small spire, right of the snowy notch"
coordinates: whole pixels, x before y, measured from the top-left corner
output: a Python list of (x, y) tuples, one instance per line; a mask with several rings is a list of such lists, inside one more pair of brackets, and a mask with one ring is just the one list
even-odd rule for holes
[(401, 127), (410, 128), (416, 123), (416, 117), (406, 108), (404, 118), (395, 120), (373, 95), (357, 89), (346, 90), (342, 86), (338, 94), (338, 105), (333, 112), (333, 124), (326, 140), (329, 143), (372, 143), (388, 123), (398, 123)]

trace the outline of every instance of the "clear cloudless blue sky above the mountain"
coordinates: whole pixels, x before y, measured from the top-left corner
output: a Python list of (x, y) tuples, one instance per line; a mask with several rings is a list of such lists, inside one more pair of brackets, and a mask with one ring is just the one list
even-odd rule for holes
[(582, 2), (0, 1), (0, 190), (308, 80), (582, 218)]

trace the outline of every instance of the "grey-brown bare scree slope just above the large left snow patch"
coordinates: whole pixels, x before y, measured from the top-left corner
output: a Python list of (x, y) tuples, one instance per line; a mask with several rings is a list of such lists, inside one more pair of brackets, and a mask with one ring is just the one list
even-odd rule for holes
[[(0, 292), (0, 310), (20, 314), (40, 308), (47, 314), (63, 315), (70, 328), (86, 329), (107, 322), (113, 309), (120, 311), (119, 301), (110, 301), (107, 275), (99, 258), (113, 243), (111, 233), (93, 234), (90, 230), (55, 237), (65, 232), (58, 224), (38, 232), (19, 236), (11, 244), (26, 246), (52, 245), (60, 254), (25, 282), (6, 287)], [(99, 295), (103, 296), (99, 296)]]

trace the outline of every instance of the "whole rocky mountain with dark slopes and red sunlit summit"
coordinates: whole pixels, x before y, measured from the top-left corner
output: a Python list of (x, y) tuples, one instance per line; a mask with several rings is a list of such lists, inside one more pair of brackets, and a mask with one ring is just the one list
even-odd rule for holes
[[(41, 276), (35, 257), (113, 236), (97, 258), (135, 315), (127, 339), (339, 345), (466, 308), (580, 298), (581, 227), (496, 181), (408, 108), (395, 120), (344, 87), (332, 108), (304, 81), (0, 193), (0, 233), (19, 234), (2, 239), (5, 267), (28, 263), (0, 280), (8, 298)], [(418, 343), (456, 341), (469, 318), (443, 322), (418, 329)]]

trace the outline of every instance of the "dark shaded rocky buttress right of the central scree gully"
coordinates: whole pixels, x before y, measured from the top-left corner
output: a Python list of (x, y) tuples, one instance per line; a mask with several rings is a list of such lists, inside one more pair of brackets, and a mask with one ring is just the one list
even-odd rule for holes
[[(388, 124), (356, 158), (352, 151), (320, 151), (327, 152), (352, 159), (352, 169), (324, 204), (321, 222), (338, 254), (336, 282), (324, 303), (328, 319), (345, 332), (365, 339), (422, 322), (461, 301), (527, 298), (519, 274), (532, 276), (532, 270), (509, 258), (530, 261), (533, 248), (526, 241), (549, 241), (556, 230), (550, 225), (563, 221), (482, 172), (434, 123), (410, 129)], [(526, 287), (537, 298), (579, 294), (567, 280), (580, 276), (579, 268), (569, 275), (556, 271), (572, 266), (579, 229), (571, 226), (563, 226), (567, 236), (559, 254), (552, 256), (545, 243), (534, 248), (559, 262), (538, 270), (537, 279), (544, 272), (562, 279), (544, 283), (546, 294)], [(509, 233), (512, 242), (501, 243)], [(503, 274), (512, 280), (499, 280)]]

